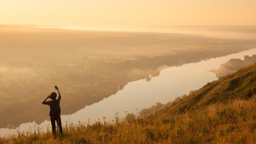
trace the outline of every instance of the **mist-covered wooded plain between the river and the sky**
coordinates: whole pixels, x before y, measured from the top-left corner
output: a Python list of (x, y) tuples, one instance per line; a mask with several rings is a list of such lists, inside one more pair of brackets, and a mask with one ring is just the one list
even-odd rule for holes
[(255, 48), (256, 40), (141, 32), (0, 26), (0, 128), (49, 120), (41, 101), (58, 85), (61, 114), (122, 90), (148, 75)]

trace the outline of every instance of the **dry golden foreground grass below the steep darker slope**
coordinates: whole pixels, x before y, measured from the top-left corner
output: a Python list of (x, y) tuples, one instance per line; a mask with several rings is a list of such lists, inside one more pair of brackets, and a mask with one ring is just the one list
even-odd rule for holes
[(93, 125), (68, 124), (64, 135), (50, 132), (0, 138), (0, 144), (194, 144), (256, 143), (256, 100), (234, 100), (181, 114)]

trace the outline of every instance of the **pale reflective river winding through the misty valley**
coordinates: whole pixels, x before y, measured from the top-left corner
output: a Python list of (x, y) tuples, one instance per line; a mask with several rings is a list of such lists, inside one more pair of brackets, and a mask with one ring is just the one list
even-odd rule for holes
[[(78, 121), (88, 121), (91, 123), (103, 117), (108, 121), (115, 119), (115, 114), (119, 113), (119, 117), (128, 113), (136, 113), (136, 108), (149, 108), (157, 102), (166, 103), (174, 100), (177, 96), (188, 94), (191, 90), (197, 90), (200, 87), (212, 82), (218, 78), (215, 73), (208, 72), (212, 69), (218, 69), (220, 64), (230, 59), (244, 59), (244, 56), (252, 56), (256, 54), (256, 48), (242, 51), (239, 53), (203, 60), (196, 63), (188, 63), (178, 67), (170, 67), (160, 72), (158, 77), (151, 77), (150, 81), (146, 79), (130, 82), (115, 95), (104, 98), (98, 103), (77, 111), (72, 115), (61, 115), (62, 125), (66, 121), (68, 123), (78, 123)], [(65, 98), (65, 96), (62, 96)], [(19, 126), (21, 132), (34, 131), (34, 126), (45, 128), (50, 121), (46, 120), (37, 125), (35, 122), (23, 123)], [(13, 134), (17, 129), (0, 129), (0, 136)]]

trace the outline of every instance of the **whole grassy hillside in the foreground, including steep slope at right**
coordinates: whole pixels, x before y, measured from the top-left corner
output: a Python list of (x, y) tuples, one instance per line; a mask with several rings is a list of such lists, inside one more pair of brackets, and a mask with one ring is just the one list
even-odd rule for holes
[[(196, 82), (195, 82), (196, 83)], [(256, 143), (256, 63), (208, 83), (146, 118), (115, 124), (63, 124), (64, 135), (20, 132), (0, 138), (13, 143), (195, 144)]]

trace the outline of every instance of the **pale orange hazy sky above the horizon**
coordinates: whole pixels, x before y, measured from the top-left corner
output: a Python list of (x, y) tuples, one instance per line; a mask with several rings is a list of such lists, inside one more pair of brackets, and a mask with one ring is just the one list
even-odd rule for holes
[(256, 25), (256, 0), (0, 0), (0, 24)]

